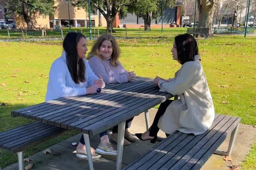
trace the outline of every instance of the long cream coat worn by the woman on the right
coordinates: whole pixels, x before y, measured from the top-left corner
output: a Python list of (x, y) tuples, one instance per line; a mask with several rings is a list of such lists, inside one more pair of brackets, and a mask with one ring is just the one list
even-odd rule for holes
[(167, 134), (178, 130), (200, 135), (214, 120), (211, 93), (198, 59), (200, 55), (195, 56), (195, 61), (184, 63), (169, 82), (158, 82), (159, 91), (179, 97), (170, 103), (158, 122), (158, 127)]

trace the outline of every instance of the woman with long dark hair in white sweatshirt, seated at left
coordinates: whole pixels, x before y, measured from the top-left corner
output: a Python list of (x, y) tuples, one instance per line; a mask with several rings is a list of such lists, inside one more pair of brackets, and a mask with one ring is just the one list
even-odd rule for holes
[[(69, 32), (63, 41), (62, 55), (53, 61), (47, 84), (45, 101), (54, 100), (61, 97), (87, 95), (97, 93), (98, 88), (105, 87), (102, 77), (97, 77), (91, 70), (88, 61), (85, 59), (87, 41), (83, 34)], [(99, 134), (100, 144), (97, 149), (106, 155), (117, 155), (113, 145), (109, 142), (108, 132)], [(83, 135), (76, 148), (78, 158), (88, 158)], [(93, 159), (101, 157), (91, 148)]]

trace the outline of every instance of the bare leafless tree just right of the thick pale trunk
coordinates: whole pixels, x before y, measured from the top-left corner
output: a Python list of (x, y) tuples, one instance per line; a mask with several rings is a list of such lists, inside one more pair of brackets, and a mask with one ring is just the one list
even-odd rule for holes
[(224, 1), (220, 0), (216, 5), (215, 5), (215, 16), (219, 22), (219, 27), (221, 25), (222, 18), (232, 10), (232, 6), (234, 5), (233, 2), (231, 1)]

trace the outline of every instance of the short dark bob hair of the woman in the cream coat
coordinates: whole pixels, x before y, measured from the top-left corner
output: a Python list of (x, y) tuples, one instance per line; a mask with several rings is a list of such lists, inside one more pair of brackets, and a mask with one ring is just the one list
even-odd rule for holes
[(194, 61), (195, 55), (198, 54), (195, 38), (190, 34), (181, 34), (177, 35), (174, 39), (179, 63), (184, 64), (187, 61)]

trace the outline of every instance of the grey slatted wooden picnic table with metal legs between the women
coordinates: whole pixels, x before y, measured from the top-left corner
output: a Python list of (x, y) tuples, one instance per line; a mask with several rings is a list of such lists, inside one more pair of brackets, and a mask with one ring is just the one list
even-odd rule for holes
[[(116, 169), (120, 170), (125, 121), (144, 111), (146, 115), (148, 109), (173, 97), (159, 92), (152, 80), (136, 77), (133, 82), (106, 85), (101, 93), (58, 98), (12, 111), (11, 114), (83, 132), (86, 150), (90, 150), (89, 137), (118, 124)], [(87, 154), (90, 170), (93, 170), (91, 153)]]

